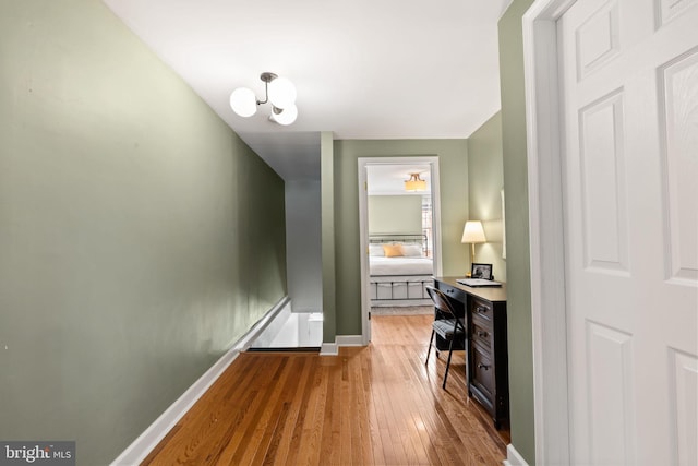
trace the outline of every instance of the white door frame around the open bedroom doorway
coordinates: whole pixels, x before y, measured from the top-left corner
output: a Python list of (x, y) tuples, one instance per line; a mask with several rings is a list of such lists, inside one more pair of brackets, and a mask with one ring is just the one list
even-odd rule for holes
[(432, 194), (432, 235), (434, 238), (434, 275), (442, 274), (441, 255), (441, 189), (438, 182), (438, 156), (359, 157), (359, 256), (361, 258), (361, 343), (371, 342), (371, 290), (369, 280), (369, 165), (429, 165)]

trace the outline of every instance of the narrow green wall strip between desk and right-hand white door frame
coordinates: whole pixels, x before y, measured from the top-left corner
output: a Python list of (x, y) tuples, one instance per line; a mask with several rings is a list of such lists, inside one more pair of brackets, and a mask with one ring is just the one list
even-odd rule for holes
[(514, 0), (498, 24), (512, 444), (531, 465), (535, 464), (535, 439), (521, 17), (532, 2)]

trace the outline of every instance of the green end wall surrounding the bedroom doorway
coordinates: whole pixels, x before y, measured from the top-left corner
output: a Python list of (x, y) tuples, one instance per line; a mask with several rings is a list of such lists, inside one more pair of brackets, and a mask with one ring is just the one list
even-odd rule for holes
[[(462, 275), (468, 266), (468, 248), (460, 242), (468, 218), (466, 140), (335, 141), (334, 241), (336, 283), (341, 284), (335, 299), (337, 335), (361, 335), (358, 159), (389, 156), (438, 156), (443, 272)], [(323, 191), (323, 202), (324, 195)]]

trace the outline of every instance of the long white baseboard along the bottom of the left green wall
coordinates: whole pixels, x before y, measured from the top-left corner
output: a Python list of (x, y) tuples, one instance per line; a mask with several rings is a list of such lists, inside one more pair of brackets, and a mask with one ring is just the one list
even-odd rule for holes
[(220, 357), (192, 386), (190, 386), (174, 403), (172, 403), (137, 439), (133, 441), (110, 466), (130, 466), (141, 464), (155, 449), (179, 420), (194, 406), (194, 403), (206, 393), (208, 387), (225, 372), (236, 360), (240, 353), (252, 345), (256, 337), (264, 331), (268, 323), (288, 303), (289, 297), (285, 296), (264, 316), (250, 328), (232, 347)]

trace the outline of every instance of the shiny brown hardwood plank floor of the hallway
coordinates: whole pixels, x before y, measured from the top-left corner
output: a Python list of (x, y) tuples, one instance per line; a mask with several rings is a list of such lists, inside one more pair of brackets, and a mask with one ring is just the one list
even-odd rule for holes
[(245, 353), (144, 465), (498, 465), (509, 443), (467, 396), (462, 351), (424, 366), (430, 315), (372, 320), (339, 356)]

